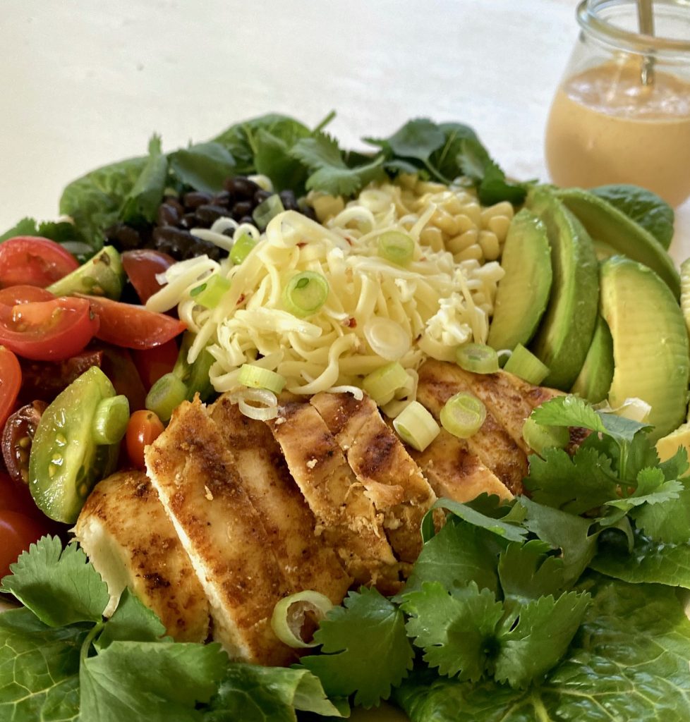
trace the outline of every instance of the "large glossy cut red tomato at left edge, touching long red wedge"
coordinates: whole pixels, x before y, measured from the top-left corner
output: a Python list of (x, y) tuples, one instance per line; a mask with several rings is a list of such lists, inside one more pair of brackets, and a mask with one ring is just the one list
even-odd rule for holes
[(98, 317), (82, 298), (0, 306), (0, 344), (35, 361), (61, 361), (78, 354), (98, 331)]

